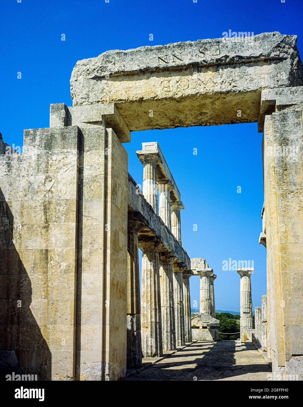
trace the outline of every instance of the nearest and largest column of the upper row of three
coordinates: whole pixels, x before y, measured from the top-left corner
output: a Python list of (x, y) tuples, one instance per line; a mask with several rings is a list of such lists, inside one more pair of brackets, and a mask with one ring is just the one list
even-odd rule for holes
[(140, 156), (140, 161), (143, 164), (143, 196), (158, 215), (156, 165), (160, 162), (160, 158), (155, 154), (144, 154)]

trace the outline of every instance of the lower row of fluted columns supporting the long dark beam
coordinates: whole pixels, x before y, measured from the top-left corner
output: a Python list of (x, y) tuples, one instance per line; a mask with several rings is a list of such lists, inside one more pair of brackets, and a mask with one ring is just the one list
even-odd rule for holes
[[(161, 242), (138, 239), (140, 220), (128, 222), (127, 368), (138, 368), (143, 357), (162, 356), (191, 341), (189, 277), (193, 275)], [(138, 247), (142, 250), (141, 304)]]

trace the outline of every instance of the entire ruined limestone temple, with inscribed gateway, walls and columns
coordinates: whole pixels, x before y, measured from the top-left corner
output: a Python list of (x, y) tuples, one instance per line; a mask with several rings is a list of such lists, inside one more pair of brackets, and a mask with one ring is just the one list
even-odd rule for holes
[[(122, 143), (135, 130), (257, 122), (267, 251), (257, 340), (274, 380), (302, 380), (302, 85), (296, 36), (278, 32), (78, 61), (73, 106), (53, 104), (50, 127), (24, 130), (26, 153), (6, 154), (0, 138), (1, 370), (39, 380), (123, 378), (142, 357), (193, 339), (194, 274), (211, 322), (215, 274), (205, 259), (195, 269), (182, 247), (184, 206), (161, 140), (137, 151), (142, 191)], [(253, 328), (250, 271), (238, 273), (244, 340)]]

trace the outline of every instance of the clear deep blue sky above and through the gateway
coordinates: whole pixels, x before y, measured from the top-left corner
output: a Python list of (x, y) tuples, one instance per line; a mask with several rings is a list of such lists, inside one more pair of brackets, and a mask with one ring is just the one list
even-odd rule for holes
[[(71, 105), (69, 80), (76, 61), (106, 50), (219, 38), (231, 29), (296, 34), (303, 55), (301, 0), (2, 0), (0, 12), (0, 132), (16, 146), (23, 144), (23, 129), (48, 127), (50, 103)], [(228, 258), (254, 260), (253, 306), (260, 306), (266, 293), (266, 249), (258, 245), (261, 136), (253, 123), (133, 132), (132, 142), (124, 144), (129, 172), (142, 183), (136, 150), (141, 142), (159, 142), (185, 206), (183, 247), (191, 257), (205, 257), (217, 274), (217, 309), (239, 310), (239, 276), (222, 271)], [(199, 280), (190, 282), (192, 301), (199, 303)]]

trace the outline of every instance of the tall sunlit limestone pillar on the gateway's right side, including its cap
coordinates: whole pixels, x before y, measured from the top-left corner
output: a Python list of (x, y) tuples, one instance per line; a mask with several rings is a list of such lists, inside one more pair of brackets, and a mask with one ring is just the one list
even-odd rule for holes
[(268, 340), (273, 379), (288, 380), (294, 375), (303, 380), (303, 88), (275, 89), (264, 92), (262, 98), (259, 127), (263, 130)]

